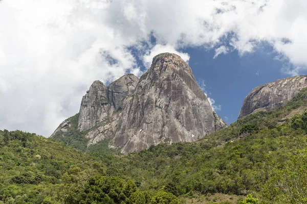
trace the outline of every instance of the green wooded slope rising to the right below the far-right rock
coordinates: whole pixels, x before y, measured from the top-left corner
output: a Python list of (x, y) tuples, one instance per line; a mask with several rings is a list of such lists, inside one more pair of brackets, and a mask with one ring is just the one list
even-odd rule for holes
[[(306, 104), (307, 89), (303, 89), (283, 107), (248, 115), (199, 141), (152, 146), (110, 164), (114, 173), (132, 176), (143, 188), (165, 186), (177, 196), (193, 191), (252, 193), (265, 203), (297, 203), (305, 191), (291, 195), (278, 185), (295, 178), (307, 187), (304, 171), (292, 179), (285, 172), (294, 168), (293, 162), (299, 164), (296, 169), (307, 168), (298, 162), (307, 150)], [(285, 119), (297, 110), (302, 114)], [(294, 201), (285, 201), (286, 197)]]

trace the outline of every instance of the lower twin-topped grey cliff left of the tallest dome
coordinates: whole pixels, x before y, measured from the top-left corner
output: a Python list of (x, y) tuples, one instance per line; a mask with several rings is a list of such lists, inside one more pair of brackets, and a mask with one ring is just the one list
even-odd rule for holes
[[(100, 81), (95, 81), (86, 91), (81, 101), (76, 131), (89, 139), (87, 146), (113, 135), (123, 99), (134, 92), (138, 81), (135, 75), (126, 74), (108, 87)], [(64, 136), (69, 126), (71, 118), (64, 120), (51, 137)]]

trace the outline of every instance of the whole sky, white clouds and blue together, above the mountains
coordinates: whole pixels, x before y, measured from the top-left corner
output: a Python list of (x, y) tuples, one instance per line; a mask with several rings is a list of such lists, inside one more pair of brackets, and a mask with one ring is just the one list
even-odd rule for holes
[(95, 80), (180, 55), (228, 124), (256, 86), (307, 74), (305, 0), (2, 0), (0, 129), (49, 137)]

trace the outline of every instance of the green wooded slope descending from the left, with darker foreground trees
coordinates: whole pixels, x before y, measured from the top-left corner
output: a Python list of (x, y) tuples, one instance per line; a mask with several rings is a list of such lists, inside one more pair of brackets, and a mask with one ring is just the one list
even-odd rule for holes
[(0, 203), (179, 204), (171, 193), (109, 176), (107, 164), (51, 139), (5, 130), (0, 147)]

